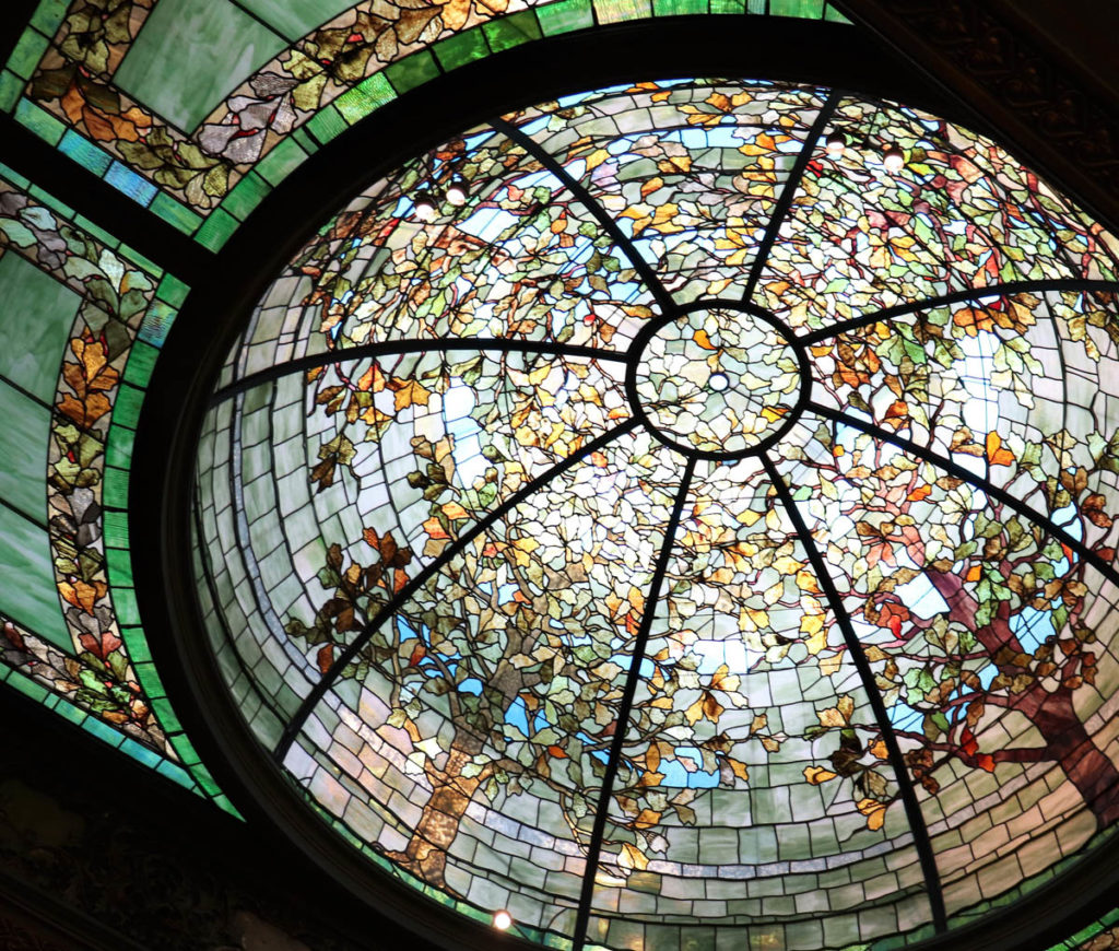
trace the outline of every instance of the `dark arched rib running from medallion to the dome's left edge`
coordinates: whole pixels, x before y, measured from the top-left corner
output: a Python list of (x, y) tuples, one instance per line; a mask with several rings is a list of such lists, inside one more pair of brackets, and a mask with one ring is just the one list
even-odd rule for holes
[(506, 340), (500, 337), (463, 337), (452, 340), (410, 337), (404, 340), (384, 340), (378, 343), (363, 343), (360, 347), (346, 347), (341, 350), (327, 350), (322, 354), (308, 354), (305, 357), (297, 357), (294, 360), (250, 374), (234, 380), (228, 386), (222, 387), (222, 389), (210, 397), (209, 405), (216, 406), (218, 403), (224, 403), (231, 396), (236, 396), (238, 393), (244, 393), (254, 386), (288, 376), (288, 374), (325, 367), (328, 364), (360, 360), (365, 357), (385, 357), (389, 354), (442, 352), (445, 350), (478, 350), (481, 352), (496, 350), (498, 352), (548, 354), (549, 356), (558, 357), (583, 357), (592, 360), (626, 362), (626, 355), (622, 352), (603, 350), (601, 347), (584, 347), (580, 343), (553, 343), (547, 340)]

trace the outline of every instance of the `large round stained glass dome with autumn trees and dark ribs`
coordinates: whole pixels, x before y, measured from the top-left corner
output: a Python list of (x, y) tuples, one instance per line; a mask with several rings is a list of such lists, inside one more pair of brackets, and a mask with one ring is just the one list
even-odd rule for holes
[(836, 90), (466, 131), (229, 354), (194, 511), (226, 685), (325, 828), (528, 940), (960, 926), (1119, 819), (1117, 249)]

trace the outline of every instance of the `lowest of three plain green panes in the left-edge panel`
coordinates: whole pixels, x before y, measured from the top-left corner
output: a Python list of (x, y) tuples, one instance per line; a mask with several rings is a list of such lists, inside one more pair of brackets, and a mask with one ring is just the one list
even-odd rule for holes
[(0, 611), (67, 652), (73, 650), (63, 620), (45, 528), (0, 505)]

